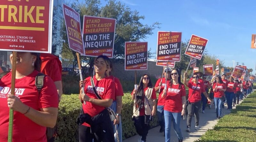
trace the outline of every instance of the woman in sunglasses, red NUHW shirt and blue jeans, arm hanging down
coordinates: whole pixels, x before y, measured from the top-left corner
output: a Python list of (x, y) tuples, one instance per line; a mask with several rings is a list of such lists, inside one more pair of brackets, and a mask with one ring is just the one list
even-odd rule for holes
[(167, 88), (163, 90), (162, 98), (165, 98), (164, 120), (165, 120), (165, 142), (171, 139), (171, 121), (173, 119), (174, 131), (178, 136), (179, 142), (182, 142), (180, 131), (180, 116), (185, 115), (186, 89), (180, 81), (180, 71), (173, 69), (171, 71), (171, 80), (167, 83)]

